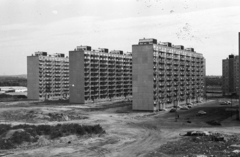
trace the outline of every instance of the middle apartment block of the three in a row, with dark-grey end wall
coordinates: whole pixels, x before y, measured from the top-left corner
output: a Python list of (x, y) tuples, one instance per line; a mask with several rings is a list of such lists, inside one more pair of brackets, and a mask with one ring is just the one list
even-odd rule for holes
[(132, 95), (132, 54), (90, 46), (69, 52), (70, 103), (122, 99)]

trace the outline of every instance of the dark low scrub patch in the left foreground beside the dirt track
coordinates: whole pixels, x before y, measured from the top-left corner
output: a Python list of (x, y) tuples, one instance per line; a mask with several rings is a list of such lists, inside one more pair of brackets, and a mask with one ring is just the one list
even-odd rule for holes
[(23, 142), (36, 142), (39, 136), (56, 139), (68, 135), (105, 133), (100, 125), (57, 124), (51, 125), (16, 125), (0, 124), (0, 149), (16, 148)]

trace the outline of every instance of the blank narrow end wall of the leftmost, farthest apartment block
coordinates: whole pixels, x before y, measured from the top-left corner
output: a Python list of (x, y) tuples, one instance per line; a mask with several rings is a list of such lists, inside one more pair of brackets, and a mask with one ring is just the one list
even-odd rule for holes
[(27, 97), (39, 99), (39, 60), (37, 56), (27, 57)]

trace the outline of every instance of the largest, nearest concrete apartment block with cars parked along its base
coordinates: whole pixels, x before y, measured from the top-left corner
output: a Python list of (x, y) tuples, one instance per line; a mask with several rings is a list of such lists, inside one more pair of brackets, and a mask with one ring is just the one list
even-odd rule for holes
[(205, 94), (205, 59), (193, 48), (140, 39), (132, 46), (133, 110), (200, 101)]

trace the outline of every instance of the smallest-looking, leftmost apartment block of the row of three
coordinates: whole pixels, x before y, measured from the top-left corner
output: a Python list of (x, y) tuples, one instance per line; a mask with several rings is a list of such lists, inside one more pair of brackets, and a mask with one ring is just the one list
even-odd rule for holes
[(27, 57), (28, 99), (69, 97), (69, 59), (64, 54), (35, 52)]

